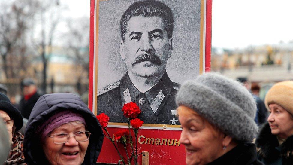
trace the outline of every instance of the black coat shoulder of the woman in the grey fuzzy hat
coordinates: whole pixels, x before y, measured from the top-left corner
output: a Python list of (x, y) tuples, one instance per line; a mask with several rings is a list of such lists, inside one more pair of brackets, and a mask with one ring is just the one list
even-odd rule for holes
[(257, 160), (257, 153), (256, 153), (256, 148), (254, 144), (241, 143), (241, 144), (238, 144), (231, 151), (227, 152), (223, 156), (209, 163), (209, 165), (219, 165), (219, 164), (262, 165), (263, 163)]

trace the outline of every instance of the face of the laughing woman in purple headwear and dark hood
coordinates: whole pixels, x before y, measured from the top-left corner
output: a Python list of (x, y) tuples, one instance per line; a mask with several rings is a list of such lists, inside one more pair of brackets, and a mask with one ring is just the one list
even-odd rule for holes
[[(84, 124), (73, 121), (55, 128), (49, 135), (59, 133), (74, 135), (74, 133), (84, 130), (86, 130)], [(83, 163), (88, 145), (89, 140), (77, 142), (74, 136), (70, 136), (68, 142), (64, 144), (55, 144), (53, 138), (47, 136), (43, 149), (50, 164), (79, 165)]]

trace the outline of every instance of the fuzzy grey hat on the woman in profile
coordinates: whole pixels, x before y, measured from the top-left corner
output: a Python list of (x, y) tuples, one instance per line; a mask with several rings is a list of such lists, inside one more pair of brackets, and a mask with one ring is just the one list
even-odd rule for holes
[(176, 97), (177, 105), (192, 108), (222, 132), (242, 142), (252, 142), (258, 127), (256, 104), (239, 82), (216, 73), (186, 81)]

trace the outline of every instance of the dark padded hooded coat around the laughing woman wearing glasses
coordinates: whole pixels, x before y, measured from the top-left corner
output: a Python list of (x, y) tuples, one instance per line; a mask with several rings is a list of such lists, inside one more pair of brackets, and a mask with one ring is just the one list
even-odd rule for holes
[(52, 113), (70, 109), (83, 115), (86, 127), (91, 136), (83, 164), (95, 164), (100, 154), (104, 134), (95, 115), (89, 110), (79, 97), (71, 93), (46, 94), (38, 99), (29, 117), (24, 138), (24, 156), (27, 164), (47, 164), (43, 149), (39, 143), (39, 136), (35, 134), (37, 127), (44, 123)]

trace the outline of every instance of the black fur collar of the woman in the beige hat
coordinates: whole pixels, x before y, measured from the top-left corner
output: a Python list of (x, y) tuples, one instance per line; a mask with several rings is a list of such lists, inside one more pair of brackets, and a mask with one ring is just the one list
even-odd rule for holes
[(285, 142), (279, 146), (276, 135), (271, 133), (268, 123), (262, 125), (255, 145), (258, 150), (258, 157), (267, 163), (282, 159), (283, 164), (293, 164), (293, 135), (288, 137)]

